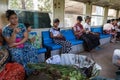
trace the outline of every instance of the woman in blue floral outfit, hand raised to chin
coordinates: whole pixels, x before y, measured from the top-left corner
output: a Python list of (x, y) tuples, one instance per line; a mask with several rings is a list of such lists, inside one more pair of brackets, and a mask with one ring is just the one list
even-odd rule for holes
[(3, 28), (2, 35), (8, 45), (11, 60), (22, 64), (29, 74), (31, 70), (28, 63), (37, 63), (37, 50), (27, 43), (28, 33), (22, 23), (18, 23), (17, 14), (13, 10), (6, 11), (6, 17), (10, 22)]

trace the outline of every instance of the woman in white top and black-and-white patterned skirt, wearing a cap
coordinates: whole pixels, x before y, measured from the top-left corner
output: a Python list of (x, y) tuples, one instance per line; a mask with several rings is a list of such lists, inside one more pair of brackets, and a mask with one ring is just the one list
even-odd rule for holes
[(50, 29), (50, 36), (53, 38), (54, 43), (62, 45), (61, 53), (69, 53), (71, 50), (71, 43), (66, 41), (65, 37), (60, 33), (60, 28), (58, 28), (59, 22), (59, 19), (54, 19), (53, 28)]

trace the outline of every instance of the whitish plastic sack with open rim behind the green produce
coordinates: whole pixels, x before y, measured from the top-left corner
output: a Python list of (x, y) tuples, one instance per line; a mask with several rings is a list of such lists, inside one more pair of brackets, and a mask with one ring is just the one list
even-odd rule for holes
[(74, 66), (78, 70), (82, 70), (88, 78), (98, 76), (101, 70), (101, 66), (84, 55), (61, 54), (61, 57), (59, 55), (55, 55), (47, 59), (46, 62), (49, 64)]

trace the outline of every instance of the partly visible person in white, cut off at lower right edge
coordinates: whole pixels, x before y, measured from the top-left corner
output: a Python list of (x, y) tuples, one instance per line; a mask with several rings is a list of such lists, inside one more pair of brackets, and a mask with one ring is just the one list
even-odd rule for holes
[(120, 49), (114, 50), (112, 62), (120, 68)]

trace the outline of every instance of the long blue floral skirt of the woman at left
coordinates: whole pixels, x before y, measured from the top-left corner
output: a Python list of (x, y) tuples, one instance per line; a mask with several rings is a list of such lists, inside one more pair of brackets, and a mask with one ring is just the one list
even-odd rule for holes
[(27, 66), (28, 63), (38, 63), (37, 49), (30, 43), (24, 43), (24, 48), (8, 48), (11, 60), (22, 64), (26, 74), (29, 75), (33, 70)]

